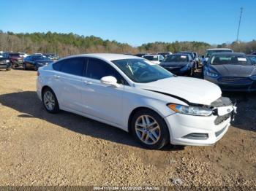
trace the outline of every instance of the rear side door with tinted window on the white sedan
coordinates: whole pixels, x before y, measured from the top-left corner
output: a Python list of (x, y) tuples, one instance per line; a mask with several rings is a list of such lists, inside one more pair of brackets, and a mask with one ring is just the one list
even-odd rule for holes
[(80, 87), (83, 86), (85, 58), (67, 58), (53, 64), (53, 87), (59, 104), (66, 110), (83, 112)]

